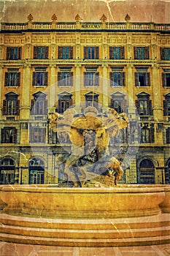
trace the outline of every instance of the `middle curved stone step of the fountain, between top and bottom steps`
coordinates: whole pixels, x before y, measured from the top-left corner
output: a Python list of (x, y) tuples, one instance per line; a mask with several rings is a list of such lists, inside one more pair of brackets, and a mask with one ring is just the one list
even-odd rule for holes
[[(125, 230), (66, 230), (66, 229), (45, 229), (41, 227), (19, 227), (2, 225), (1, 233), (18, 236), (35, 236), (50, 238), (80, 238), (80, 239), (110, 239), (110, 238), (144, 238), (155, 236), (169, 236), (169, 227), (152, 227), (125, 229)], [(1, 236), (0, 233), (0, 236)]]

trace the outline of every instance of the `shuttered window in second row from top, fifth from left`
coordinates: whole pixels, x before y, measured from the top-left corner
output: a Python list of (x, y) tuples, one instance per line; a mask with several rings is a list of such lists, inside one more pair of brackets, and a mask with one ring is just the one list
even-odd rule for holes
[(110, 86), (125, 86), (125, 72), (110, 72)]

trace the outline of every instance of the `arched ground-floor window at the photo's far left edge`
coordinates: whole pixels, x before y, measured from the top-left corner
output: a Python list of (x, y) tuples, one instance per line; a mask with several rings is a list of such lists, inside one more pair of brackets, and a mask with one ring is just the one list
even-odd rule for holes
[(0, 184), (15, 183), (15, 162), (10, 158), (1, 160), (0, 163)]

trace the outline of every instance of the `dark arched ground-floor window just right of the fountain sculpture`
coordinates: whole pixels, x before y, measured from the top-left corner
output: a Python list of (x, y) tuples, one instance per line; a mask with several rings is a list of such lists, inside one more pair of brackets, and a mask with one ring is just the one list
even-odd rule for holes
[(140, 162), (139, 184), (155, 184), (155, 167), (149, 159)]

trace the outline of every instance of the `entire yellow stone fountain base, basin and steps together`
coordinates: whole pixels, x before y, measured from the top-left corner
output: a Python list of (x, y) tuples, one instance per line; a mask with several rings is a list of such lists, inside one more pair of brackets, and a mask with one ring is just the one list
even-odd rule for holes
[(1, 186), (0, 240), (51, 246), (170, 242), (169, 187)]

